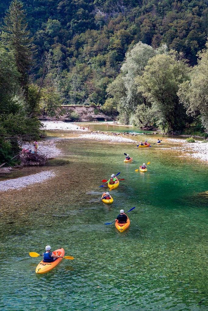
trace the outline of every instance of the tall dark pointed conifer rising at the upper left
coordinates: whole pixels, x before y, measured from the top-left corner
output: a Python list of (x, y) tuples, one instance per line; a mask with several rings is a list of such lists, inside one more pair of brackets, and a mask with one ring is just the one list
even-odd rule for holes
[(26, 14), (22, 2), (13, 0), (4, 18), (4, 31), (8, 34), (9, 49), (14, 52), (20, 83), (27, 89), (29, 69), (31, 67), (32, 46), (27, 30)]

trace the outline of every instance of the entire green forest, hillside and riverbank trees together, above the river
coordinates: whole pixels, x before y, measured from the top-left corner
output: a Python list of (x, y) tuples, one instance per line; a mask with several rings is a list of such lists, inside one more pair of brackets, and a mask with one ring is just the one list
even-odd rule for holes
[(103, 105), (140, 127), (207, 130), (207, 4), (2, 0), (0, 161), (40, 135), (40, 110), (61, 103)]

